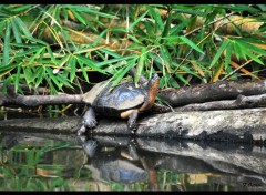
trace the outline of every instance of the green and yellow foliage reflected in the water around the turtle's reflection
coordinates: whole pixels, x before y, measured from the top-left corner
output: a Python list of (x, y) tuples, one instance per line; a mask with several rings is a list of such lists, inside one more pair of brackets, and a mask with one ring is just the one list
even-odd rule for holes
[[(149, 191), (147, 181), (133, 184), (94, 181), (89, 168), (81, 168), (83, 150), (76, 150), (70, 143), (47, 140), (31, 144), (20, 143), (8, 153), (4, 150), (0, 145), (0, 191)], [(192, 182), (188, 178), (191, 175), (204, 178), (219, 176), (158, 170), (160, 189), (224, 191), (223, 187), (229, 187), (213, 184), (208, 179)]]

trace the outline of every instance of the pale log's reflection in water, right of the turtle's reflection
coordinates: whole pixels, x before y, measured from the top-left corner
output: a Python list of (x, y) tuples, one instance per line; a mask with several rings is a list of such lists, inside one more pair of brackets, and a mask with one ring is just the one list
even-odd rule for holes
[(257, 152), (256, 147), (248, 150), (245, 148), (245, 145), (238, 145), (237, 148), (231, 150), (228, 143), (219, 143), (219, 148), (212, 147), (212, 144), (208, 145), (206, 143), (196, 144), (191, 142), (185, 143), (186, 146), (174, 144), (174, 142), (170, 143), (171, 144), (166, 144), (161, 141), (143, 142), (139, 140), (139, 144), (147, 151), (158, 153), (167, 151), (167, 154), (195, 157), (203, 160), (222, 172), (233, 174), (242, 173), (243, 175), (266, 174), (265, 150)]

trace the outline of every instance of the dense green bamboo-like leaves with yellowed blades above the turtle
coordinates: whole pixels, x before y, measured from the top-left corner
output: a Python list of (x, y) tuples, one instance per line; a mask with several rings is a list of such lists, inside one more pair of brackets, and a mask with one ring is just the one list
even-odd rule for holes
[[(264, 79), (266, 6), (2, 4), (0, 82), (51, 93), (90, 82), (114, 84), (136, 68), (161, 88), (244, 75)], [(246, 16), (248, 13), (248, 16)]]

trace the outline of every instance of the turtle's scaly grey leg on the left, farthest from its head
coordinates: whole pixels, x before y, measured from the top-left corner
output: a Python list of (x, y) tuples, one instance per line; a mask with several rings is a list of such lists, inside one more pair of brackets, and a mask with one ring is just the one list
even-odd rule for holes
[(92, 129), (96, 126), (96, 116), (94, 110), (89, 106), (82, 119), (82, 126), (78, 131), (78, 135), (82, 135), (86, 132), (86, 127)]

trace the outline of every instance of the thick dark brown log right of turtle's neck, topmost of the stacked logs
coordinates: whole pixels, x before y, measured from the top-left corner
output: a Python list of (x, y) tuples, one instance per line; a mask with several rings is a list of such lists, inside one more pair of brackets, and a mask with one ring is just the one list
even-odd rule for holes
[(239, 94), (249, 96), (264, 93), (266, 93), (265, 81), (239, 80), (183, 86), (178, 89), (162, 89), (160, 90), (157, 96), (167, 101), (172, 106), (176, 107), (191, 103), (234, 100)]

